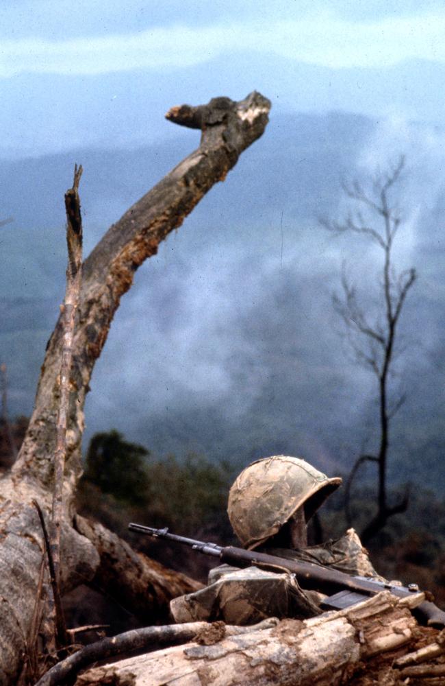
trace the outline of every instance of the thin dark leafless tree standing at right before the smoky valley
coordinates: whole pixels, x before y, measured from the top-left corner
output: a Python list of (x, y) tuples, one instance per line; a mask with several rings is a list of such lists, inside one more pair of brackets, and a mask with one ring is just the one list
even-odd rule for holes
[[(342, 295), (333, 296), (333, 306), (342, 318), (357, 361), (369, 369), (378, 381), (379, 394), (379, 448), (376, 454), (361, 455), (355, 462), (346, 483), (346, 515), (348, 510), (351, 484), (361, 465), (373, 462), (378, 470), (377, 512), (361, 534), (366, 544), (375, 536), (394, 514), (404, 512), (408, 506), (409, 493), (406, 490), (402, 499), (390, 505), (387, 495), (387, 453), (390, 445), (390, 425), (394, 414), (405, 401), (403, 394), (394, 397), (390, 393), (390, 376), (396, 357), (396, 333), (403, 305), (409, 289), (416, 281), (416, 270), (410, 268), (396, 272), (394, 268), (394, 238), (402, 223), (401, 211), (392, 200), (392, 190), (400, 180), (405, 166), (401, 156), (393, 167), (379, 173), (363, 184), (357, 180), (352, 185), (343, 185), (346, 196), (354, 209), (342, 222), (322, 220), (323, 226), (335, 233), (355, 233), (367, 237), (378, 246), (383, 256), (383, 279), (379, 281), (378, 312), (368, 315), (364, 304), (359, 300), (357, 289), (350, 283), (346, 272), (342, 274)], [(372, 222), (368, 221), (371, 217)], [(377, 275), (377, 279), (380, 277)]]

